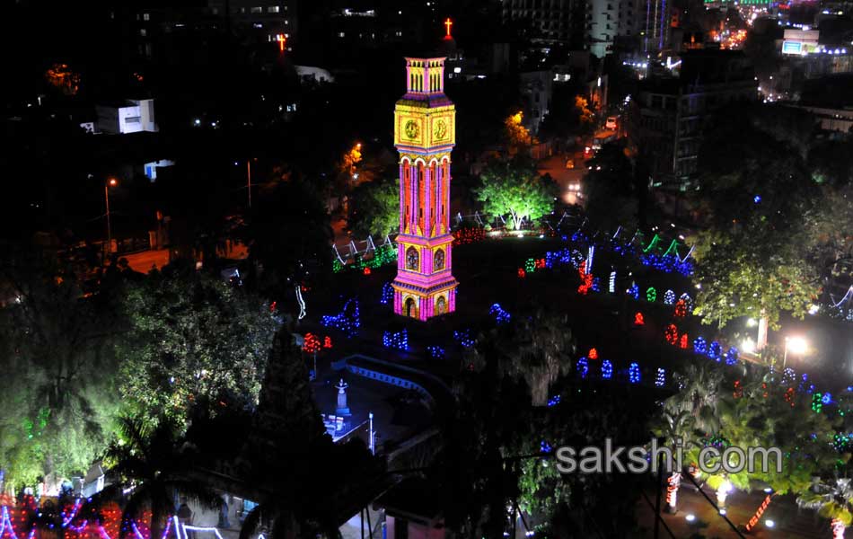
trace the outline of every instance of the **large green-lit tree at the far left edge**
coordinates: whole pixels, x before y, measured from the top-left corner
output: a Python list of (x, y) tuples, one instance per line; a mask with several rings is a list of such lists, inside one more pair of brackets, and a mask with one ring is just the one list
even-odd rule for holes
[(5, 252), (0, 279), (0, 465), (11, 485), (85, 473), (111, 436), (119, 407), (119, 332), (108, 291), (84, 297), (70, 268), (46, 252)]

